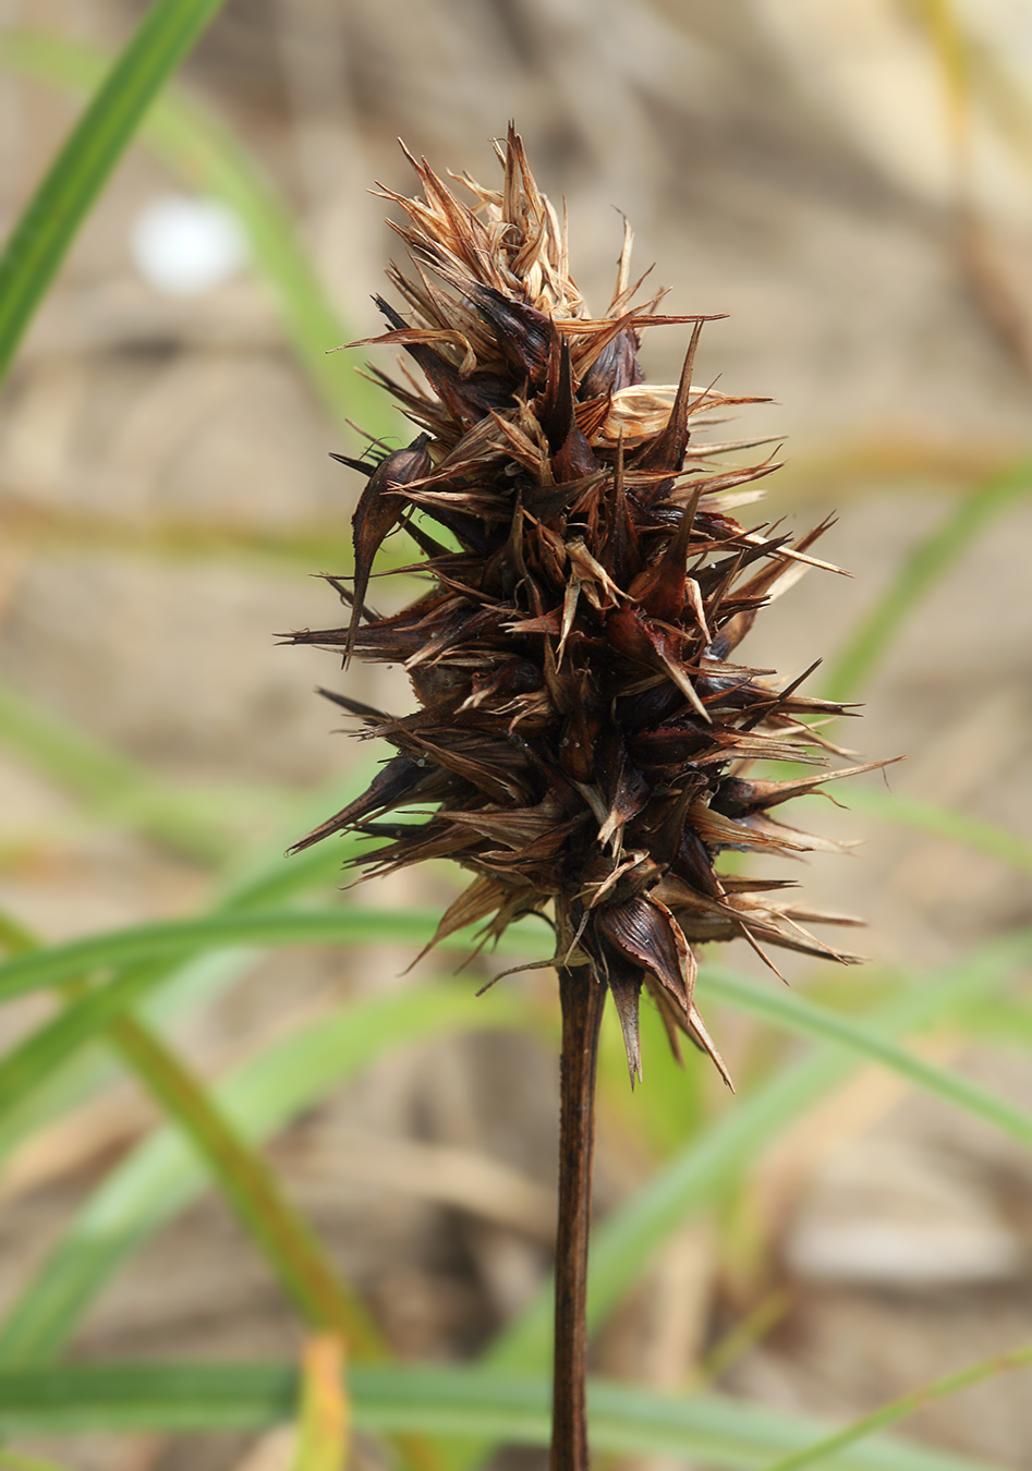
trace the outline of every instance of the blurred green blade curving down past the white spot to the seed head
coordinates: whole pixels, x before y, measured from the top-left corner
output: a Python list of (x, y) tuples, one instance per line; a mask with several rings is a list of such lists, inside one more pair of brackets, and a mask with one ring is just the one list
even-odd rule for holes
[[(103, 75), (106, 59), (56, 37), (12, 31), (0, 41), (0, 65), (65, 90), (87, 91)], [(175, 88), (155, 104), (141, 138), (184, 182), (234, 212), (300, 365), (336, 422), (343, 428), (356, 419), (377, 438), (397, 438), (403, 425), (383, 394), (350, 363), (327, 356), (362, 334), (340, 321), (287, 206), (247, 149), (209, 109)]]

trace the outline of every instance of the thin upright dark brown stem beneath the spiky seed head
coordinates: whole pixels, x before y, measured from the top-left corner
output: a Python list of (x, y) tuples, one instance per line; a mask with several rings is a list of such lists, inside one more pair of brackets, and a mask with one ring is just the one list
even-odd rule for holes
[(559, 971), (559, 1219), (555, 1233), (552, 1471), (589, 1471), (587, 1231), (592, 1219), (595, 1065), (605, 987), (587, 969)]

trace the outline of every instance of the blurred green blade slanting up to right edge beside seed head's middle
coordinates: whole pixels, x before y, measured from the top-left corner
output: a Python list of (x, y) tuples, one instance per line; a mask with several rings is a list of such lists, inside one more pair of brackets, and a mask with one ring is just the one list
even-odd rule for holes
[(854, 700), (889, 652), (908, 613), (935, 587), (954, 562), (1011, 506), (1032, 491), (1032, 460), (979, 485), (904, 560), (888, 588), (861, 619), (845, 649), (824, 677), (821, 696)]

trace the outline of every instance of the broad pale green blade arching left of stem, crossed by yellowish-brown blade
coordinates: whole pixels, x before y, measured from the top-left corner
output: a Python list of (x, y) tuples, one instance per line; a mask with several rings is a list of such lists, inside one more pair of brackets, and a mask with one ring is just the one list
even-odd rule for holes
[[(259, 1141), (334, 1087), (406, 1043), (442, 1033), (512, 1027), (517, 994), (490, 1005), (461, 986), (420, 986), (319, 1016), (243, 1062), (212, 1089), (238, 1134)], [(125, 1259), (196, 1200), (208, 1175), (172, 1128), (159, 1130), (105, 1178), (46, 1256), (0, 1328), (0, 1364), (56, 1356)]]

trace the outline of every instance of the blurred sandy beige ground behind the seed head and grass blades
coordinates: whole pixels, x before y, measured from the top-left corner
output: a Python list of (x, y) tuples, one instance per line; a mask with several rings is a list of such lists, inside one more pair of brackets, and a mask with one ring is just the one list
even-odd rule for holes
[[(115, 50), (140, 9), (4, 0), (4, 229), (77, 115), (69, 56)], [(370, 296), (397, 243), (368, 191), (412, 193), (399, 135), (436, 169), (492, 182), (489, 140), (514, 118), (539, 182), (565, 199), (589, 303), (608, 302), (623, 212), (667, 310), (729, 313), (707, 327), (699, 377), (773, 400), (735, 434), (785, 435), (786, 468), (754, 519), (804, 531), (835, 512), (821, 555), (852, 574), (811, 572), (777, 602), (751, 635), (754, 663), (795, 675), (841, 650), (957, 499), (1028, 455), (1026, 0), (230, 0), (177, 94), (247, 150), (322, 296), (305, 321), (284, 310), (215, 188), (218, 140), (202, 129), (190, 144), (169, 124), (118, 169), (24, 344), (0, 400), (0, 906), (49, 940), (190, 911), (219, 841), (286, 846), (312, 794), (343, 790), (370, 759), (331, 736), (312, 693), (334, 683), (333, 658), (277, 635), (339, 622), (309, 574), (349, 569), (361, 481), (330, 452), (405, 432), (356, 377), (367, 350), (322, 357), (378, 331)], [(673, 328), (646, 337), (649, 378), (676, 378), (683, 350)], [(894, 790), (1025, 836), (1031, 546), (1032, 507), (1014, 497), (901, 619), (848, 733), (864, 759), (907, 755)], [(396, 671), (347, 680), (409, 708)], [(107, 784), (90, 765), (100, 753), (125, 761)], [(159, 790), (180, 796), (144, 819)], [(1029, 922), (1028, 875), (863, 811), (813, 808), (864, 846), (817, 856), (807, 897), (864, 915), (860, 947), (883, 965), (942, 965)], [(440, 875), (406, 875), (364, 902), (446, 896)], [(409, 958), (259, 958), (185, 1027), (190, 1055), (215, 1072), (327, 996), (414, 984), (397, 978)], [(720, 959), (752, 969), (748, 952)], [(786, 974), (805, 989), (808, 962)], [(41, 1015), (35, 1000), (10, 1008), (6, 1034)], [(736, 1025), (723, 1039), (748, 1066), (763, 1044)], [(985, 1039), (945, 1052), (1032, 1105), (1028, 1055)], [(546, 1049), (450, 1040), (380, 1065), (274, 1146), (400, 1353), (473, 1352), (540, 1280), (554, 1102)], [(604, 1118), (599, 1208), (649, 1167), (627, 1116)], [(9, 1155), (0, 1302), (150, 1122), (112, 1084)], [(689, 1384), (742, 1322), (714, 1370), (721, 1387), (842, 1418), (1032, 1339), (1032, 1165), (864, 1072), (763, 1158), (735, 1209), (674, 1240), (604, 1334), (598, 1368)], [(122, 1272), (77, 1352), (261, 1356), (293, 1334), (209, 1202)], [(914, 1430), (1025, 1467), (1028, 1381), (929, 1408)], [(277, 1436), (90, 1442), (75, 1465), (274, 1471), (287, 1464)]]

